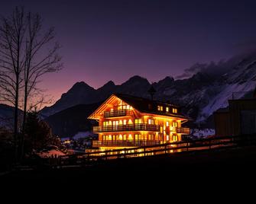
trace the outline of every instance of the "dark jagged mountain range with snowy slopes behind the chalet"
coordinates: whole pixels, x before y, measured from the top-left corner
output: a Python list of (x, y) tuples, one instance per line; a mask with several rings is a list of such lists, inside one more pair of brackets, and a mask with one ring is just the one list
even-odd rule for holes
[[(171, 72), (171, 71), (170, 71)], [(171, 76), (151, 84), (135, 75), (122, 84), (109, 81), (95, 89), (84, 81), (77, 82), (60, 100), (44, 107), (41, 115), (59, 135), (70, 135), (92, 125), (87, 116), (113, 93), (150, 98), (151, 85), (157, 91), (154, 100), (180, 105), (196, 126), (212, 127), (212, 113), (228, 106), (234, 92), (243, 97), (256, 85), (256, 52), (235, 56), (227, 61), (197, 63), (176, 79)], [(75, 123), (76, 122), (76, 123)], [(68, 130), (70, 129), (70, 130)]]

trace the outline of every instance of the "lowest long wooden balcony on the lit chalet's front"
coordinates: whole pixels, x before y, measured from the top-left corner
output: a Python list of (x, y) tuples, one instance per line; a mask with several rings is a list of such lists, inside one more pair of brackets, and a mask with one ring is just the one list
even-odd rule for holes
[(115, 146), (115, 147), (134, 147), (134, 146), (147, 146), (147, 145), (160, 145), (160, 141), (152, 140), (126, 140), (126, 141), (92, 141), (92, 147), (104, 147), (104, 146)]

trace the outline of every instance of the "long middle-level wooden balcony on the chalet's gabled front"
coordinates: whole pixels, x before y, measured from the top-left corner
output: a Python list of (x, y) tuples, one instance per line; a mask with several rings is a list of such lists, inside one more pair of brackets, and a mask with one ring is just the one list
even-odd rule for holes
[(150, 124), (131, 124), (118, 126), (94, 126), (93, 132), (126, 132), (126, 131), (154, 131), (160, 132), (160, 126)]

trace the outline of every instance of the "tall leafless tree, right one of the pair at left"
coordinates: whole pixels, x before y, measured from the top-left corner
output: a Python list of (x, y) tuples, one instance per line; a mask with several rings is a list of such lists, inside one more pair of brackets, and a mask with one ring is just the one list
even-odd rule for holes
[(57, 72), (62, 68), (61, 57), (57, 53), (60, 49), (58, 43), (53, 43), (51, 49), (41, 52), (45, 46), (53, 42), (55, 37), (54, 28), (50, 27), (49, 30), (41, 35), (43, 33), (41, 16), (39, 14), (31, 14), (31, 12), (28, 12), (27, 24), (28, 36), (26, 38), (26, 60), (24, 65), (24, 123), (22, 132), (24, 132), (28, 99), (33, 95), (41, 95), (41, 97), (37, 97), (37, 101), (34, 101), (34, 106), (44, 102), (43, 91), (37, 87), (39, 78), (46, 73)]

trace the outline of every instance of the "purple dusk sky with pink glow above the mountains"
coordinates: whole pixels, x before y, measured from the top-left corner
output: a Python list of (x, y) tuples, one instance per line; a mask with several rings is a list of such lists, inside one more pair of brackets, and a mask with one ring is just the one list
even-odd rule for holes
[(99, 88), (133, 75), (159, 81), (196, 62), (218, 62), (256, 45), (256, 1), (13, 1), (54, 26), (64, 69), (41, 82), (55, 99), (76, 81)]

